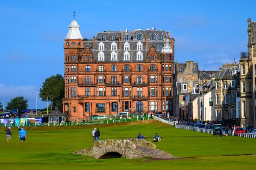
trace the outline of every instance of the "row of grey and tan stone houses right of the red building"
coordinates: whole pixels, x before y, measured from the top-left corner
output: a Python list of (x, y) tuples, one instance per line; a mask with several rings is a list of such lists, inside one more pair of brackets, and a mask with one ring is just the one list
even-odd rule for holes
[(256, 127), (256, 22), (248, 18), (248, 52), (238, 63), (200, 71), (198, 63), (175, 63), (174, 115)]

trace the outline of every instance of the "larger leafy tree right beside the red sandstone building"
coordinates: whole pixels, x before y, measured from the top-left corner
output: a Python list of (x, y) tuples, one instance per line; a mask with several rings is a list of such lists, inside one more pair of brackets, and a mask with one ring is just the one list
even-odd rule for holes
[(52, 106), (56, 106), (58, 108), (62, 108), (62, 99), (64, 98), (64, 78), (60, 74), (56, 74), (56, 76), (52, 75), (45, 79), (43, 82), (42, 88), (40, 88), (40, 98), (43, 101), (51, 102), (51, 110)]

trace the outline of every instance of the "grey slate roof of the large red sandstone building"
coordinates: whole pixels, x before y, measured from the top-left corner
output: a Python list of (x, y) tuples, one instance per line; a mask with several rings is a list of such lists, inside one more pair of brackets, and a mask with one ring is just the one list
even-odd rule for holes
[[(137, 40), (137, 34), (141, 33), (143, 35), (142, 40)], [(156, 40), (150, 40), (150, 34), (151, 33), (155, 33), (156, 34)], [(158, 40), (157, 35), (158, 33), (162, 33), (163, 35), (163, 39), (162, 40)], [(99, 37), (100, 35), (105, 35), (106, 40), (105, 41), (100, 41)], [(121, 48), (118, 49), (118, 40), (114, 40), (112, 39), (113, 35), (121, 35)], [(125, 40), (124, 37), (125, 35), (130, 35), (131, 40)], [(146, 40), (145, 37), (146, 35), (148, 35), (148, 49), (146, 49)], [(133, 39), (132, 39), (133, 37)], [(161, 57), (161, 49), (157, 49), (157, 44), (161, 45), (161, 47), (163, 47), (164, 45), (164, 41), (165, 39), (168, 38), (165, 31), (161, 31), (161, 30), (139, 30), (139, 31), (110, 31), (110, 32), (99, 32), (96, 37), (95, 37), (95, 49), (92, 49), (92, 41), (84, 41), (84, 46), (86, 47), (87, 45), (89, 45), (90, 50), (92, 51), (94, 60), (98, 63), (119, 63), (119, 62), (126, 62), (126, 63), (142, 63), (146, 60), (147, 58), (147, 54), (150, 50), (150, 47), (153, 45), (154, 48), (156, 49), (158, 58), (160, 59)], [(99, 43), (102, 42), (104, 43), (104, 61), (98, 61), (98, 53), (99, 51)], [(116, 49), (116, 53), (117, 53), (117, 61), (111, 61), (111, 54), (112, 50), (111, 50), (111, 44), (115, 42), (117, 44), (117, 49)], [(128, 51), (130, 53), (130, 61), (124, 61), (124, 43), (128, 42), (130, 44), (130, 50)], [(143, 54), (143, 61), (137, 61), (136, 59), (136, 53), (137, 51), (137, 43), (141, 42), (142, 43), (142, 54)], [(170, 42), (171, 43), (171, 42)]]

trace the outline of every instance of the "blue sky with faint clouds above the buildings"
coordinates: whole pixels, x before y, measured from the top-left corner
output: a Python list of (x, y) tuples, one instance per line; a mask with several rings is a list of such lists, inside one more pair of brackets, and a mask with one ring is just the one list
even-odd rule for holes
[[(35, 108), (42, 82), (64, 74), (63, 45), (73, 10), (84, 38), (109, 29), (156, 27), (174, 37), (175, 61), (193, 60), (200, 70), (218, 70), (247, 51), (247, 18), (256, 21), (255, 5), (255, 0), (1, 1), (0, 102), (4, 98), (6, 106), (24, 96)], [(38, 99), (38, 108), (45, 107)]]

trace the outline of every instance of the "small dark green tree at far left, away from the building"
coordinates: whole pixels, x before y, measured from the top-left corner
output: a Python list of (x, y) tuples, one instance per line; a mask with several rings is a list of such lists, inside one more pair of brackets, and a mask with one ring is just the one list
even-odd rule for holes
[(6, 109), (26, 109), (28, 108), (28, 100), (24, 99), (23, 96), (13, 98), (7, 103)]

